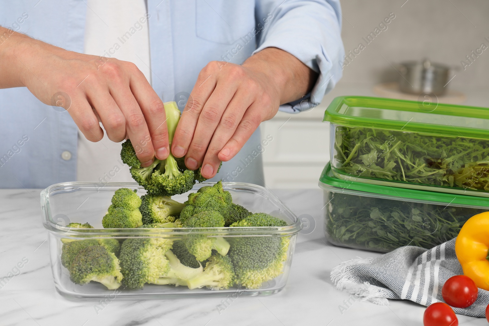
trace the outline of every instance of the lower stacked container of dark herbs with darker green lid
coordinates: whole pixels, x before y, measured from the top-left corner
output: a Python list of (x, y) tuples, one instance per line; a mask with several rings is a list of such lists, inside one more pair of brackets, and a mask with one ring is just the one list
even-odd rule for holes
[(324, 189), (327, 240), (356, 249), (433, 248), (456, 237), (467, 219), (489, 210), (485, 197), (341, 180), (329, 163), (319, 186)]

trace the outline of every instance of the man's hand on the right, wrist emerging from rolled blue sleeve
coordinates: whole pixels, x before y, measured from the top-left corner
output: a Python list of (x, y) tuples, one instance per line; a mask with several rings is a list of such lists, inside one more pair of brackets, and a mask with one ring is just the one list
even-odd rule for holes
[(268, 47), (243, 65), (212, 61), (200, 71), (183, 110), (172, 143), (175, 157), (185, 156), (189, 169), (216, 175), (262, 121), (271, 119), (280, 104), (307, 94), (317, 73), (296, 57)]

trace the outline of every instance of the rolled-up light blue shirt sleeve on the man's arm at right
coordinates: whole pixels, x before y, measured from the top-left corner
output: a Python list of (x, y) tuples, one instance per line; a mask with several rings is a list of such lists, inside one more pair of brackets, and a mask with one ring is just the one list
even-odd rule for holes
[(283, 104), (280, 111), (299, 113), (318, 105), (342, 76), (339, 0), (257, 0), (257, 49), (277, 47), (289, 52), (319, 76), (311, 93)]

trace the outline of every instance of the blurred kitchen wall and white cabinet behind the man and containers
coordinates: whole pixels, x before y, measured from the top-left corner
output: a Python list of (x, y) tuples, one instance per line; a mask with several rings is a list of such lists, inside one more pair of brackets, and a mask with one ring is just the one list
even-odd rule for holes
[[(417, 95), (394, 89), (402, 78), (396, 71), (401, 62), (429, 58), (451, 68), (447, 92), (438, 96), (440, 103), (489, 107), (489, 48), (483, 50), (489, 47), (489, 1), (344, 0), (341, 6), (345, 52), (353, 52), (359, 43), (365, 48), (356, 57), (351, 56), (342, 79), (319, 106), (297, 115), (279, 112), (261, 124), (262, 138), (273, 137), (262, 154), (267, 187), (317, 186), (330, 151), (329, 125), (322, 118), (334, 97), (414, 96), (417, 100)], [(391, 13), (395, 18), (387, 29), (383, 27), (367, 45), (362, 38)], [(482, 54), (476, 57), (471, 51)]]

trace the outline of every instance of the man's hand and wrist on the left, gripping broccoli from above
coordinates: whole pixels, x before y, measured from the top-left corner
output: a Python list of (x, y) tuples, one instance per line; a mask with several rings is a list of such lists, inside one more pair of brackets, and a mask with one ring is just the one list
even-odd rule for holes
[[(0, 27), (0, 34), (5, 31)], [(0, 77), (0, 88), (25, 86), (43, 103), (64, 107), (88, 140), (103, 138), (99, 121), (110, 140), (128, 137), (143, 166), (155, 155), (168, 156), (163, 102), (133, 63), (10, 33), (0, 44)]]

